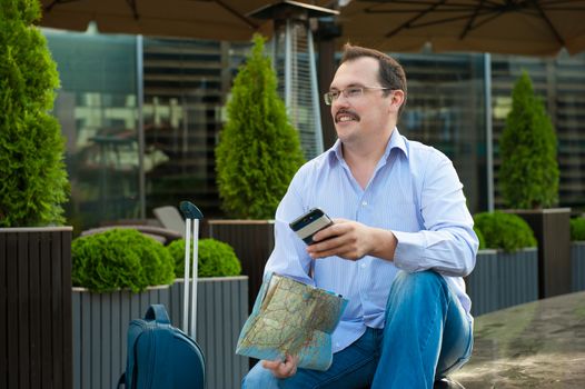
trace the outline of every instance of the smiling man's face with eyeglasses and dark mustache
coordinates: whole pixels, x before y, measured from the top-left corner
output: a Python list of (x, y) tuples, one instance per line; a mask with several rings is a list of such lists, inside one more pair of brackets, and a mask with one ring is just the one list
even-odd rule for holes
[(331, 91), (347, 88), (365, 88), (360, 96), (346, 97), (340, 93), (331, 103), (331, 116), (337, 136), (344, 143), (375, 139), (383, 131), (390, 131), (396, 124), (391, 119), (391, 93), (385, 96), (378, 81), (379, 63), (370, 57), (341, 63), (329, 87)]

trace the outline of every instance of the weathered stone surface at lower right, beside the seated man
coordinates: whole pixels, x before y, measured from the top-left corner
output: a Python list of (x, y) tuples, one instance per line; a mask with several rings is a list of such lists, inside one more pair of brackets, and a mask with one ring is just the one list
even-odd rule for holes
[(466, 389), (585, 388), (585, 292), (475, 320), (472, 360), (453, 376)]

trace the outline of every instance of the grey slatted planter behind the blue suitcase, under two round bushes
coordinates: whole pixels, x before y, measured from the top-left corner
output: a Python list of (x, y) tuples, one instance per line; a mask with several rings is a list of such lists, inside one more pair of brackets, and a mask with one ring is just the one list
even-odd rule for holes
[[(126, 368), (128, 325), (143, 318), (151, 303), (167, 308), (182, 326), (182, 280), (141, 293), (93, 293), (73, 288), (73, 388), (115, 388)], [(197, 288), (197, 342), (206, 357), (208, 388), (238, 387), (248, 359), (235, 355), (246, 321), (248, 278), (200, 278)]]

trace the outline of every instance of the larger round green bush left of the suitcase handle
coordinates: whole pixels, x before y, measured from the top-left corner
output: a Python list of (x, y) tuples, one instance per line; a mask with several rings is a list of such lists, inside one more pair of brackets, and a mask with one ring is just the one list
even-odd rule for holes
[(80, 237), (71, 245), (73, 286), (102, 292), (172, 282), (173, 263), (167, 249), (133, 229), (112, 229)]

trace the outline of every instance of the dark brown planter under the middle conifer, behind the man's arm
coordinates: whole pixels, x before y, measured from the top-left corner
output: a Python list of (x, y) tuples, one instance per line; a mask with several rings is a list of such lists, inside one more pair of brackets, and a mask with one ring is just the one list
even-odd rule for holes
[(204, 238), (230, 245), (241, 262), (241, 273), (249, 277), (248, 313), (262, 285), (264, 267), (275, 248), (274, 220), (209, 220)]

